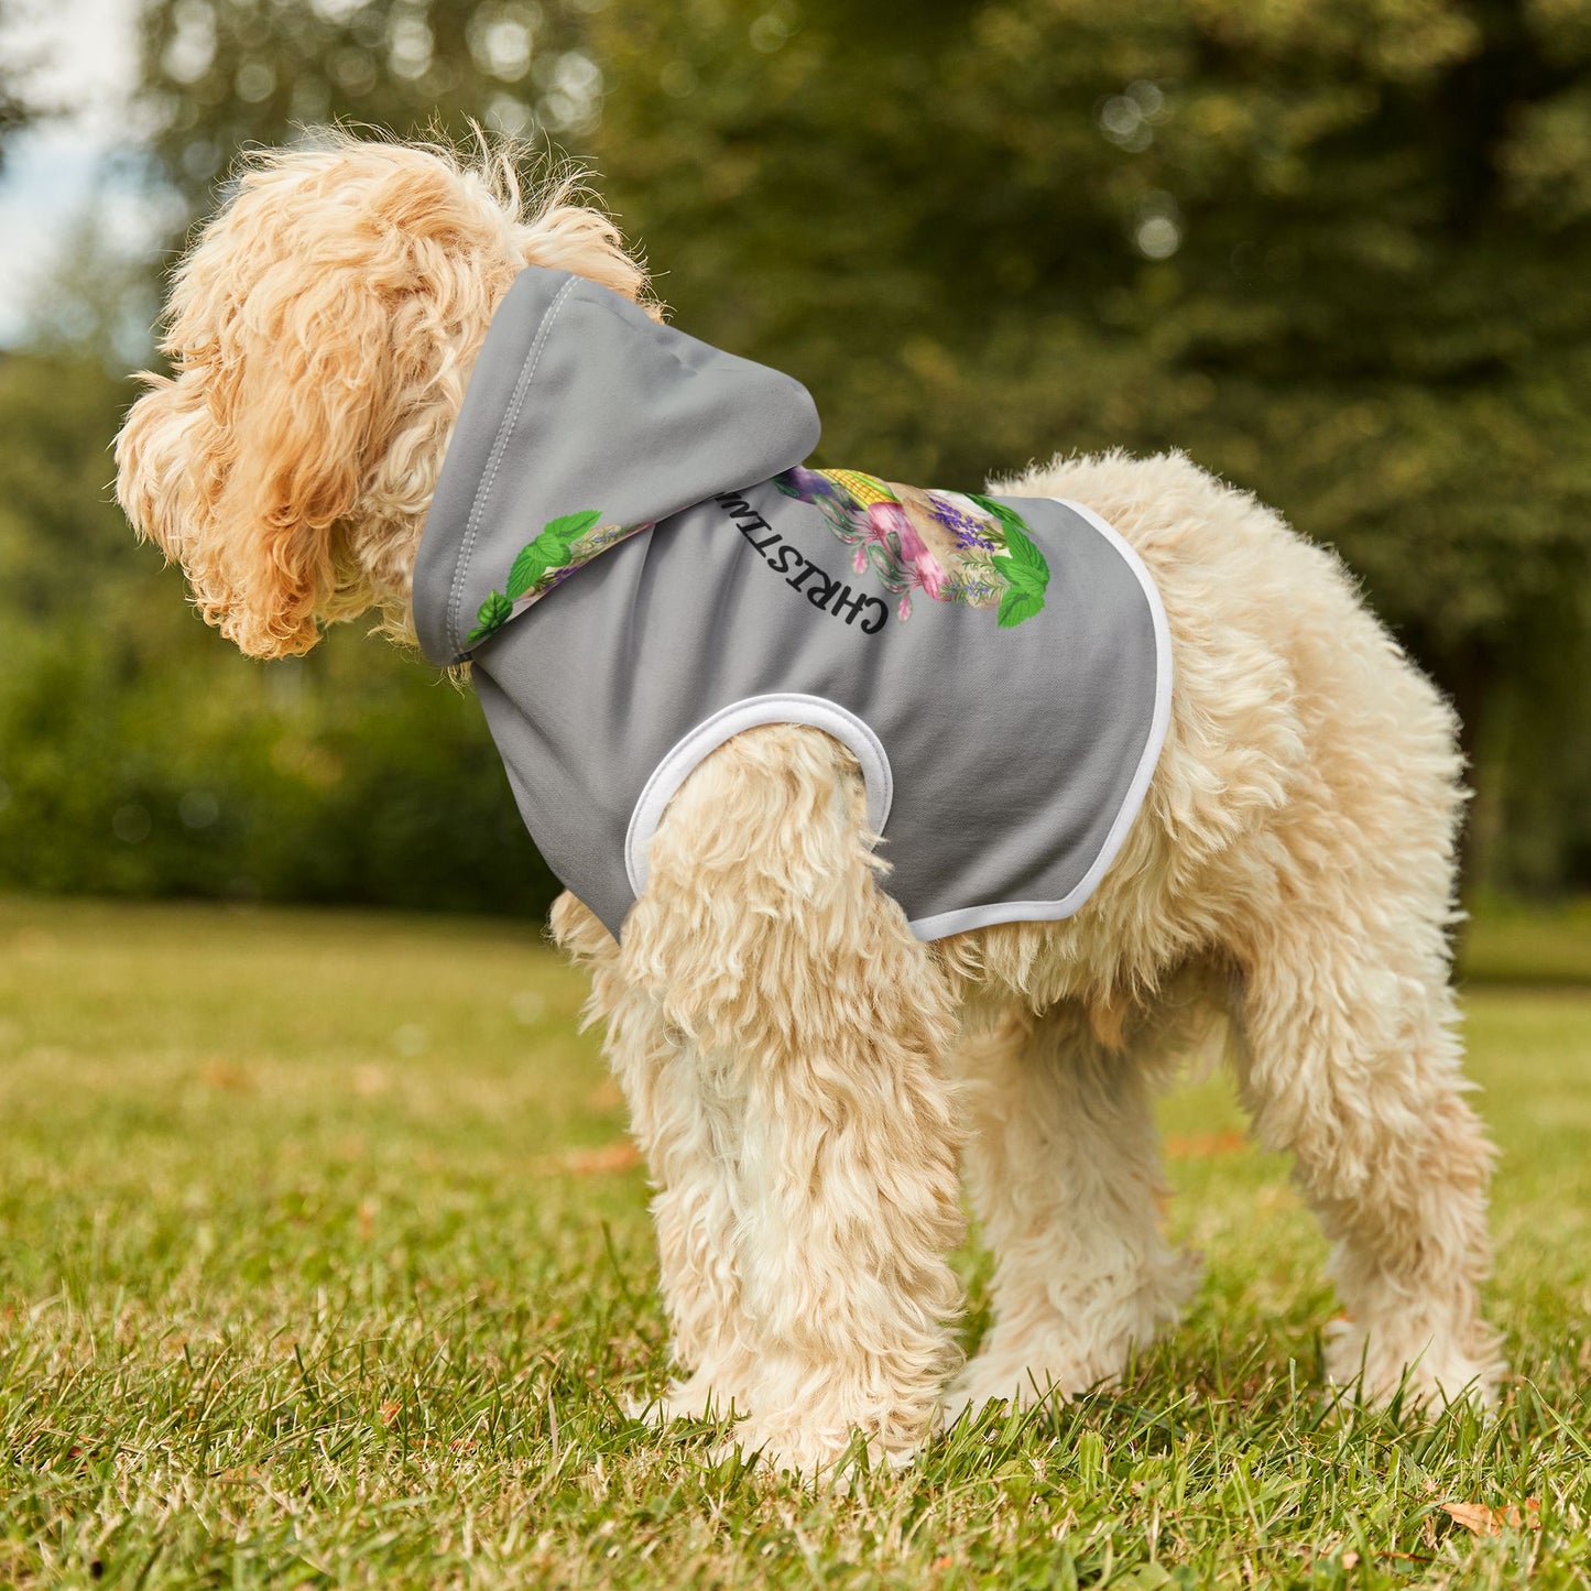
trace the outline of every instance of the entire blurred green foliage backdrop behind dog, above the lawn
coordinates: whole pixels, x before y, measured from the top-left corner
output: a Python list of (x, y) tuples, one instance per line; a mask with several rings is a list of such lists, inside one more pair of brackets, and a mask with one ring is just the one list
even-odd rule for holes
[[(140, 113), (189, 215), (328, 116), (592, 161), (823, 463), (1185, 449), (1454, 695), (1472, 881), (1591, 885), (1586, 0), (158, 0)], [(231, 657), (129, 546), (94, 342), (0, 364), (0, 880), (543, 902), (473, 703), (353, 635)]]

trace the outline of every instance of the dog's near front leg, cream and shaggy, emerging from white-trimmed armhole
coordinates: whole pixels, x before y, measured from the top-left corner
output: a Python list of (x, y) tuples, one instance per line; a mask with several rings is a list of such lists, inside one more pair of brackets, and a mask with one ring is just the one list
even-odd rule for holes
[(668, 1114), (703, 1150), (689, 1188), (657, 1161), (665, 1249), (733, 1316), (735, 1440), (803, 1475), (858, 1432), (910, 1457), (958, 1360), (951, 996), (875, 866), (848, 754), (751, 730), (670, 807), (620, 953), (673, 1036), (652, 1068)]

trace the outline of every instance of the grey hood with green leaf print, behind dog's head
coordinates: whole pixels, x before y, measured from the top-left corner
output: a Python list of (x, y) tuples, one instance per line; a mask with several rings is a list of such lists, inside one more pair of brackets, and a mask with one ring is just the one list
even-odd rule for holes
[(425, 520), (420, 648), (460, 662), (605, 547), (799, 465), (818, 433), (792, 377), (528, 266), (492, 318)]

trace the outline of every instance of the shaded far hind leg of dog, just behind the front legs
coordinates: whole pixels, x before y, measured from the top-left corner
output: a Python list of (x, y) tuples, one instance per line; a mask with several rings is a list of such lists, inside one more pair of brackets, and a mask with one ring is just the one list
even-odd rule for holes
[(1152, 1095), (1165, 1063), (1111, 1048), (1082, 1006), (1012, 1013), (961, 1052), (993, 1325), (947, 1413), (1112, 1383), (1198, 1279), (1160, 1233)]

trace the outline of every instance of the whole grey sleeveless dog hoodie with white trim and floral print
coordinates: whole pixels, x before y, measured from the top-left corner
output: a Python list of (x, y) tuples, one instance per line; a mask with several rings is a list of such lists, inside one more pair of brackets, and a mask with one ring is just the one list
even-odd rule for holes
[(420, 543), (527, 827), (617, 936), (675, 791), (759, 724), (854, 753), (920, 939), (1076, 912), (1165, 740), (1171, 652), (1090, 509), (799, 468), (807, 390), (563, 270), (492, 321)]

